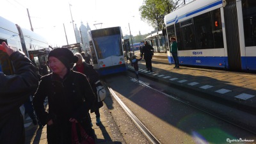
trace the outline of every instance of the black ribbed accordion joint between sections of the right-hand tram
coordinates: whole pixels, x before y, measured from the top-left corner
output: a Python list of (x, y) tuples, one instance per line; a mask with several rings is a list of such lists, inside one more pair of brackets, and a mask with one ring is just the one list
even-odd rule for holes
[(230, 70), (241, 70), (241, 51), (237, 22), (236, 0), (227, 0), (224, 7), (225, 29), (227, 33), (228, 67)]

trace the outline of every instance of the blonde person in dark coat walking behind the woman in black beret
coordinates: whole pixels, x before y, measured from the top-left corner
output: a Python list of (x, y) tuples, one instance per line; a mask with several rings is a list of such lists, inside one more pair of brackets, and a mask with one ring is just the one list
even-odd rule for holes
[[(73, 67), (73, 70), (76, 72), (81, 72), (82, 74), (85, 74), (87, 76), (88, 81), (90, 82), (92, 86), (92, 90), (97, 95), (97, 81), (100, 81), (98, 72), (93, 68), (92, 65), (88, 65), (83, 61), (82, 55), (79, 53), (75, 54), (79, 60), (77, 61), (76, 65)], [(95, 113), (96, 115), (96, 125), (99, 125), (100, 122), (100, 111), (99, 108), (103, 106), (103, 102), (98, 102), (97, 99), (95, 99), (94, 105), (90, 109), (91, 113)]]

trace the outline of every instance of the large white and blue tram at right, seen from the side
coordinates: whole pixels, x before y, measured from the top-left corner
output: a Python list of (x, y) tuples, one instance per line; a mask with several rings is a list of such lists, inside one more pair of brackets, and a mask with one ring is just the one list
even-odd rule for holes
[[(180, 65), (256, 70), (256, 1), (196, 0), (164, 17)], [(168, 52), (168, 60), (174, 63)]]

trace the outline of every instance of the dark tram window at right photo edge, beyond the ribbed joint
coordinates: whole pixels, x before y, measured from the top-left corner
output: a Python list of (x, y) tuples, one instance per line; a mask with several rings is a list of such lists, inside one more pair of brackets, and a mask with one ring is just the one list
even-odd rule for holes
[(256, 1), (243, 0), (242, 9), (245, 46), (256, 46)]

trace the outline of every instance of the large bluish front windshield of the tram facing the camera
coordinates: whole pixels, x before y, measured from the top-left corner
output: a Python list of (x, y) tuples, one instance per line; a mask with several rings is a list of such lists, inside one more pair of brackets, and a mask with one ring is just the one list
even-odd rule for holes
[(99, 59), (109, 56), (122, 56), (122, 41), (120, 35), (101, 36), (93, 38)]

